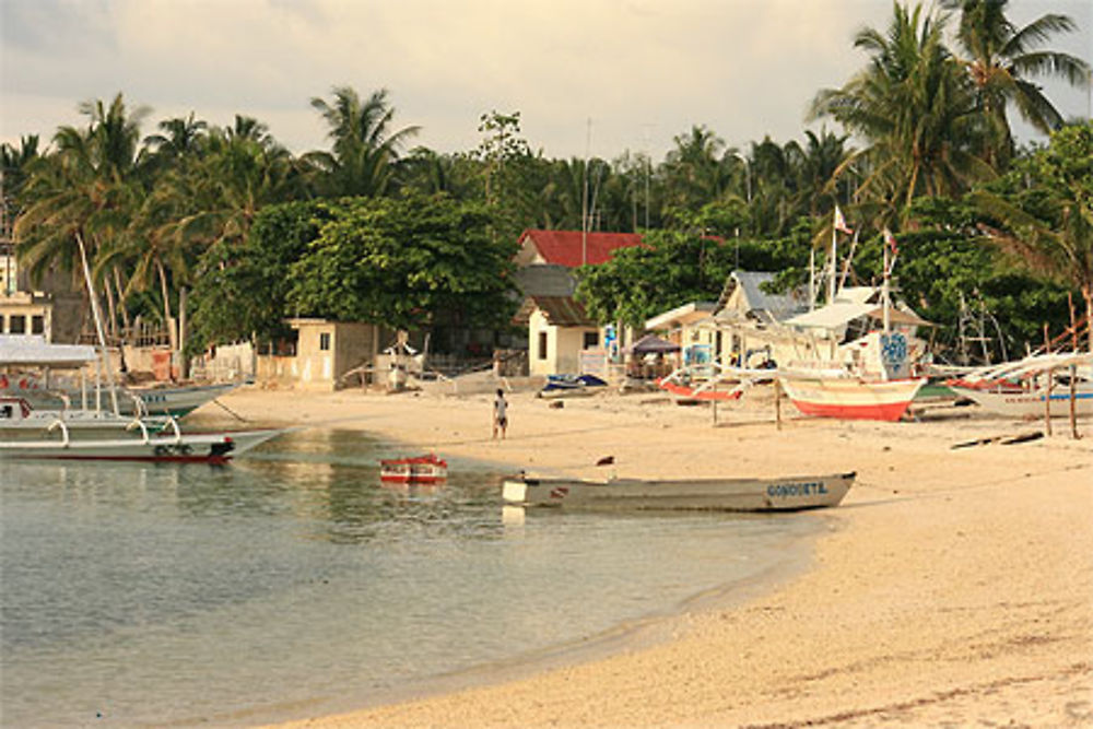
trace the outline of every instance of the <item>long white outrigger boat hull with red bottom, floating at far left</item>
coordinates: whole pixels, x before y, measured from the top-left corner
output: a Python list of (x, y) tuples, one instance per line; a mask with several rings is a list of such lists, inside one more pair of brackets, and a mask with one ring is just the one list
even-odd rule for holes
[(73, 439), (64, 422), (57, 421), (45, 431), (43, 439), (0, 440), (0, 458), (226, 463), (287, 432), (281, 428), (183, 434), (175, 424), (171, 433), (153, 434), (141, 421), (133, 423), (129, 431), (113, 437)]

